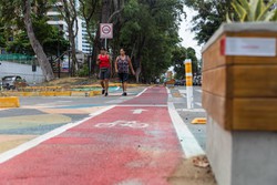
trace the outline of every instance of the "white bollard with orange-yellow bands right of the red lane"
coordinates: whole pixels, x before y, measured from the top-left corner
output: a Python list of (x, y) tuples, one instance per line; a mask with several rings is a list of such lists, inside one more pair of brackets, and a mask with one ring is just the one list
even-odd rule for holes
[(184, 62), (185, 72), (186, 72), (186, 102), (187, 109), (194, 109), (194, 100), (193, 100), (193, 68), (192, 60), (186, 59)]

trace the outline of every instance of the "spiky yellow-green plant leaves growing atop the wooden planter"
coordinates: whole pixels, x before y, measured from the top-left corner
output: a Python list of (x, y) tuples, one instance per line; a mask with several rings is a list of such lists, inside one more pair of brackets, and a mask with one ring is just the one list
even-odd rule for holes
[[(263, 0), (234, 0), (232, 7), (234, 8), (237, 19), (232, 17), (232, 20), (239, 22), (247, 21), (277, 21), (277, 9), (271, 10), (277, 0), (264, 2)], [(227, 16), (228, 22), (232, 20)]]

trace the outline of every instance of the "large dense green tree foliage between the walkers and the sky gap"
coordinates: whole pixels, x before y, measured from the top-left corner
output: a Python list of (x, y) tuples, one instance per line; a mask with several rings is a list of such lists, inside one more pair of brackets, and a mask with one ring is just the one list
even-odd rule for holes
[(183, 13), (182, 0), (126, 1), (114, 32), (116, 54), (125, 48), (134, 68), (142, 68), (145, 81), (160, 76), (172, 65), (174, 45), (181, 41), (177, 31)]

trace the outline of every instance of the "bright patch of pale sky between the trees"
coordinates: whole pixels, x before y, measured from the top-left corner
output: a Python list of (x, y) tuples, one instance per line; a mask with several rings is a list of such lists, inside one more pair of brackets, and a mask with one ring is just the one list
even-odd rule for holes
[(196, 11), (185, 7), (184, 11), (186, 12), (187, 17), (186, 19), (183, 19), (181, 22), (178, 34), (183, 39), (182, 45), (185, 48), (193, 48), (196, 51), (196, 55), (198, 59), (201, 59), (201, 50), (202, 47), (197, 44), (197, 41), (194, 40), (195, 33), (191, 32), (192, 24), (192, 18), (193, 16), (197, 14)]

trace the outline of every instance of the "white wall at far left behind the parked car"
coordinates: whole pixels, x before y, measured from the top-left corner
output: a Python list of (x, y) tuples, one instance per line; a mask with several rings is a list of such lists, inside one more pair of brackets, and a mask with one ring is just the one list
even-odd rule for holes
[(0, 78), (6, 75), (20, 75), (25, 79), (29, 84), (41, 83), (45, 80), (42, 74), (41, 68), (37, 66), (37, 72), (32, 72), (32, 65), (20, 64), (13, 62), (0, 61)]

